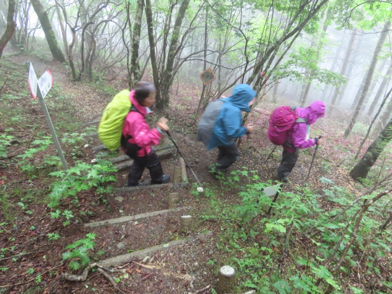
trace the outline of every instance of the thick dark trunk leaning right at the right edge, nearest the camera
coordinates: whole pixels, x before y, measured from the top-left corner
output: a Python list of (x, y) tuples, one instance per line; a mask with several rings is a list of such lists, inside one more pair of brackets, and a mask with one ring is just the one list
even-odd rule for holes
[(364, 157), (354, 166), (350, 171), (350, 176), (354, 180), (359, 180), (360, 178), (365, 179), (368, 176), (370, 168), (376, 162), (378, 156), (384, 150), (384, 147), (392, 139), (392, 119), (384, 127), (381, 133), (378, 135), (377, 139), (368, 147)]

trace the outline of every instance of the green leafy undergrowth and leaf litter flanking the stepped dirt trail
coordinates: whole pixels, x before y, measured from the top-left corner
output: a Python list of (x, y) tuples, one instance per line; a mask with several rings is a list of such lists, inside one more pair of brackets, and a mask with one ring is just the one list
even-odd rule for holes
[[(86, 134), (96, 129), (81, 123), (91, 121), (92, 113), (120, 89), (101, 87), (105, 98), (96, 108), (85, 107), (73, 98), (77, 93), (70, 94), (77, 87), (65, 88), (66, 75), (55, 80), (46, 103), (69, 164), (62, 171), (45, 118), (27, 87), (24, 57), (0, 60), (0, 293), (127, 292), (121, 271), (111, 273), (114, 284), (104, 277), (91, 284), (60, 280), (63, 272), (80, 274), (107, 254), (96, 234), (74, 242), (72, 236), (78, 222), (99, 217), (98, 207), (107, 205), (116, 187), (110, 162), (98, 157), (97, 164), (91, 163), (96, 156), (85, 147), (92, 144)], [(45, 66), (64, 71), (60, 64)], [(177, 133), (196, 141), (194, 97), (197, 93), (181, 84), (163, 115)], [(263, 101), (259, 107), (268, 114), (275, 105)], [(270, 172), (279, 161), (276, 151), (265, 163), (272, 149), (266, 137), (268, 116), (253, 113), (249, 120), (256, 132), (242, 143), (235, 168), (218, 181), (203, 177), (202, 193), (196, 184), (188, 191), (198, 212), (195, 227), (212, 231), (217, 252), (204, 264), (213, 273), (204, 286), (211, 284), (210, 293), (216, 293), (219, 267), (231, 265), (239, 281), (236, 293), (391, 293), (391, 144), (367, 180), (354, 182), (348, 172), (366, 125), (357, 123), (353, 134), (342, 139), (344, 123), (323, 119), (312, 130), (324, 140), (311, 176), (313, 149), (301, 153), (290, 182), (273, 202), (263, 192), (277, 184)], [(192, 152), (192, 147), (181, 148), (187, 155)], [(204, 252), (194, 254), (202, 260)], [(140, 275), (136, 283), (146, 280)], [(176, 293), (193, 293), (202, 282), (178, 284)]]

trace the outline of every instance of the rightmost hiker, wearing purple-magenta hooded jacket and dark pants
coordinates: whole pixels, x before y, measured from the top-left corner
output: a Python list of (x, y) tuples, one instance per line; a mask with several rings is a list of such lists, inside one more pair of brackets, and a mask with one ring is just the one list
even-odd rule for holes
[(299, 149), (320, 144), (320, 139), (309, 138), (309, 125), (325, 116), (324, 102), (317, 100), (305, 108), (296, 108), (295, 112), (298, 118), (305, 119), (306, 123), (295, 123), (289, 131), (286, 143), (283, 145), (282, 161), (278, 170), (272, 176), (275, 180), (288, 181), (288, 175), (294, 169), (295, 163), (297, 162)]

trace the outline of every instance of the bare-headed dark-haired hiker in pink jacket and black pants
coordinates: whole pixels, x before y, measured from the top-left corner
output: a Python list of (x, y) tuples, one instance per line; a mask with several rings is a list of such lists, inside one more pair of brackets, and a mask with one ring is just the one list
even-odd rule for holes
[(170, 180), (170, 176), (163, 173), (161, 161), (151, 149), (158, 145), (164, 131), (168, 131), (167, 119), (161, 118), (155, 128), (149, 127), (146, 115), (151, 113), (150, 107), (155, 102), (155, 87), (148, 82), (139, 82), (129, 93), (132, 102), (131, 111), (125, 118), (123, 126), (122, 148), (133, 159), (127, 186), (138, 186), (143, 171), (150, 172), (152, 184), (163, 184)]

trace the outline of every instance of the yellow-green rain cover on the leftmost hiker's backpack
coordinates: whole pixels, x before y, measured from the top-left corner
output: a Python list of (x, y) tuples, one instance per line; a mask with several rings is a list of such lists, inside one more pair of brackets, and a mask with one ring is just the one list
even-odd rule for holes
[(125, 117), (131, 106), (129, 90), (123, 90), (105, 107), (98, 126), (98, 138), (107, 149), (120, 148)]

